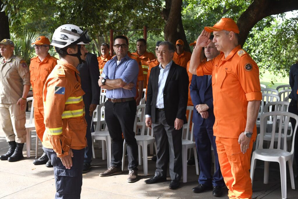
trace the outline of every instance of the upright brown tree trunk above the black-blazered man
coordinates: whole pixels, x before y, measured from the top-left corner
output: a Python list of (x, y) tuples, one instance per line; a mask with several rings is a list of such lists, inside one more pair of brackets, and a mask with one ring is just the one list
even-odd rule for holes
[(184, 50), (190, 51), (181, 18), (182, 0), (166, 0), (162, 17), (166, 21), (164, 26), (164, 40), (176, 44), (178, 39), (184, 41)]

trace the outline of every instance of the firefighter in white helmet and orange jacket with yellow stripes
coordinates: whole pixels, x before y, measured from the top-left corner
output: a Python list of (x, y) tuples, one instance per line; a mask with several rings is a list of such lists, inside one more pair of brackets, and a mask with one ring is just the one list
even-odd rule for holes
[(85, 60), (90, 41), (86, 30), (72, 24), (58, 27), (52, 37), (60, 60), (44, 85), (43, 148), (54, 166), (55, 198), (80, 198), (87, 124), (76, 66)]

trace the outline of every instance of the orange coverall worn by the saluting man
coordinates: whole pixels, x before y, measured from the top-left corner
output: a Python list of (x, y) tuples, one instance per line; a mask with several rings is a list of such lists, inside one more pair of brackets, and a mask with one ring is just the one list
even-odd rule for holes
[(249, 169), (252, 144), (257, 136), (256, 125), (245, 154), (240, 150), (238, 138), (246, 127), (248, 102), (262, 100), (259, 68), (239, 45), (226, 58), (221, 53), (210, 61), (201, 62), (196, 73), (198, 76), (212, 75), (213, 132), (228, 196), (251, 198)]

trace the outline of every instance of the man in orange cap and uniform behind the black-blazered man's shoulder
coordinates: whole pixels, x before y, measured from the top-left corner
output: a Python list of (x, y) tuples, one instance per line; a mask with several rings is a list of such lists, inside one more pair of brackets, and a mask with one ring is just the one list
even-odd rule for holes
[(184, 68), (187, 67), (187, 62), (190, 61), (191, 53), (184, 51), (184, 42), (181, 39), (176, 41), (177, 51), (174, 53), (173, 61)]

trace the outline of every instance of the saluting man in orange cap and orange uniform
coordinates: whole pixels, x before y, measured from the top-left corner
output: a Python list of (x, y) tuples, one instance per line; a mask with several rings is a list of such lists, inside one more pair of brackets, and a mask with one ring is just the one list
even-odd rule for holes
[[(205, 27), (197, 39), (189, 70), (198, 76), (212, 75), (213, 132), (228, 196), (252, 198), (250, 157), (257, 136), (256, 120), (262, 93), (259, 68), (238, 45), (238, 34), (238, 26), (231, 18), (222, 18), (213, 27)], [(210, 42), (221, 53), (201, 62), (202, 47)]]

